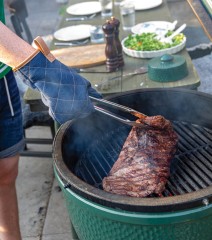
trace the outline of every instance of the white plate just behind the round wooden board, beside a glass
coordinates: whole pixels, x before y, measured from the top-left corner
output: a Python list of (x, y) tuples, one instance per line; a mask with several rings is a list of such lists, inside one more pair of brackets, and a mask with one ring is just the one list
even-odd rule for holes
[(61, 28), (54, 33), (54, 38), (60, 41), (75, 41), (90, 37), (89, 24), (73, 25)]

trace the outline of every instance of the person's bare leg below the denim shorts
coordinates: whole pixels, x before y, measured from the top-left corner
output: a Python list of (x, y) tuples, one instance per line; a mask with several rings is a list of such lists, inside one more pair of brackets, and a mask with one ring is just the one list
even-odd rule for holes
[(0, 239), (21, 240), (15, 181), (19, 156), (0, 159)]

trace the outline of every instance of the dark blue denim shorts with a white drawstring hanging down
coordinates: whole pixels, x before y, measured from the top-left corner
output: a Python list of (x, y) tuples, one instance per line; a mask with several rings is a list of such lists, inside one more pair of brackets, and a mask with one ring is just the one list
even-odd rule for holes
[(24, 146), (19, 89), (10, 71), (0, 79), (0, 159), (18, 154)]

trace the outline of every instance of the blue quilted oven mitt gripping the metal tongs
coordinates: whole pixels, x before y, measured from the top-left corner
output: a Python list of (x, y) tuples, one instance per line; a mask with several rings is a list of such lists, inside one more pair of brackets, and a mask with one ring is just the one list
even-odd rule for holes
[(56, 59), (49, 61), (43, 51), (38, 52), (17, 73), (29, 87), (40, 91), (42, 101), (49, 107), (49, 114), (60, 124), (93, 112), (89, 95), (101, 98), (90, 82), (75, 69)]

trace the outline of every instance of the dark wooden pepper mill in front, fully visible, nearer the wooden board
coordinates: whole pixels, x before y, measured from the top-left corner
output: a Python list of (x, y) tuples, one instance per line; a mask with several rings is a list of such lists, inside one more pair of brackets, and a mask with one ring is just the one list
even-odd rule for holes
[(106, 67), (109, 72), (114, 72), (118, 68), (117, 48), (114, 40), (114, 29), (115, 26), (109, 20), (102, 25), (102, 29), (105, 34), (106, 46)]

